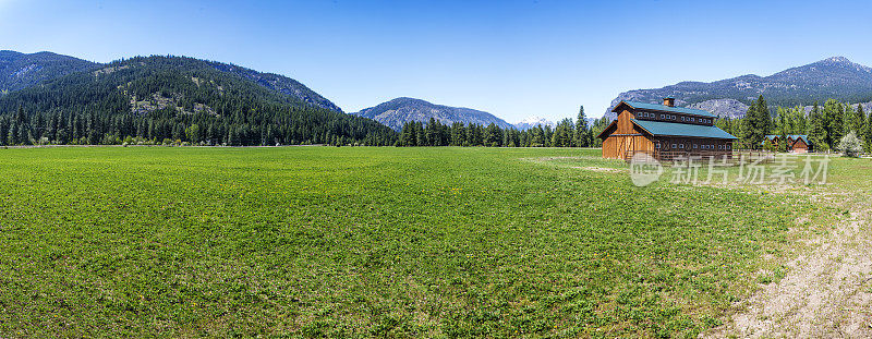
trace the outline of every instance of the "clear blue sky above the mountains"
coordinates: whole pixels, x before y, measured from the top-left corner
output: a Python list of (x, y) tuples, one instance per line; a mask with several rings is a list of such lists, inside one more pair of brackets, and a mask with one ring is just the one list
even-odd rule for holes
[(872, 1), (0, 0), (0, 49), (177, 55), (293, 77), (358, 111), (396, 97), (600, 117), (620, 92), (872, 65)]

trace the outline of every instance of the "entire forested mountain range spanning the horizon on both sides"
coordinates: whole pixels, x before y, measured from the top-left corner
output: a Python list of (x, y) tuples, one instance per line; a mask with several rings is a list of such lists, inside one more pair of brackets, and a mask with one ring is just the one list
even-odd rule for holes
[[(711, 83), (681, 82), (662, 88), (629, 90), (618, 95), (611, 106), (620, 100), (661, 102), (663, 97), (671, 96), (679, 106), (704, 109), (719, 117), (741, 118), (748, 104), (759, 95), (763, 95), (772, 106), (798, 105), (807, 110), (815, 100), (823, 102), (829, 98), (864, 102), (864, 107), (871, 107), (872, 69), (835, 57), (770, 76), (742, 75)], [(27, 55), (2, 50), (0, 118), (19, 107), (29, 113), (58, 110), (117, 117), (132, 113), (131, 119), (140, 121), (153, 119), (148, 114), (166, 114), (167, 110), (172, 110), (180, 116), (165, 117), (161, 121), (169, 119), (173, 123), (192, 123), (185, 114), (205, 113), (214, 118), (210, 124), (218, 123), (216, 121), (225, 124), (216, 133), (227, 134), (213, 136), (209, 142), (215, 138), (228, 141), (229, 134), (237, 133), (226, 125), (225, 118), (232, 113), (235, 116), (233, 123), (241, 124), (239, 130), (242, 132), (239, 133), (250, 138), (244, 142), (247, 144), (271, 144), (272, 141), (324, 143), (337, 137), (361, 141), (371, 133), (370, 141), (375, 138), (373, 135), (378, 135), (377, 138), (384, 142), (393, 136), (382, 128), (399, 131), (407, 122), (427, 123), (431, 119), (445, 124), (494, 123), (504, 129), (519, 130), (554, 126), (554, 122), (541, 117), (510, 124), (489, 112), (408, 97), (346, 114), (329, 99), (293, 78), (185, 57), (135, 57), (97, 63), (52, 52)], [(607, 111), (605, 117), (614, 118), (614, 113)], [(265, 122), (264, 119), (274, 121)], [(255, 124), (259, 125), (255, 128)], [(263, 130), (267, 125), (284, 131), (284, 137), (269, 135), (256, 141), (253, 134), (267, 134)], [(303, 126), (311, 131), (303, 132)], [(160, 135), (172, 134), (170, 136), (177, 138), (178, 130), (182, 128), (174, 129), (175, 132)], [(274, 130), (269, 132), (274, 133)], [(290, 130), (293, 132), (288, 132)], [(0, 131), (0, 138), (4, 132), (8, 131)]]

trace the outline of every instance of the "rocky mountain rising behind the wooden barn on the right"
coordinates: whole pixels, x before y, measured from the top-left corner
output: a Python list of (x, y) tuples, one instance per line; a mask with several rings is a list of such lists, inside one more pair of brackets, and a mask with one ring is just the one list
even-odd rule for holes
[(872, 100), (872, 69), (834, 57), (770, 76), (742, 75), (712, 83), (681, 82), (675, 85), (621, 93), (620, 100), (661, 102), (673, 96), (676, 105), (708, 109), (720, 117), (743, 117), (747, 105), (763, 95), (771, 106), (810, 106), (833, 98), (846, 102)]

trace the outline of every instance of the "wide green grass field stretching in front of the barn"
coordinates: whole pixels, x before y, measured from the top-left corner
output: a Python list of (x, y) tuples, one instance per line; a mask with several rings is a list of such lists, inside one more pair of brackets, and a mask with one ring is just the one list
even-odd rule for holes
[(0, 149), (0, 337), (695, 337), (844, 215), (598, 154)]

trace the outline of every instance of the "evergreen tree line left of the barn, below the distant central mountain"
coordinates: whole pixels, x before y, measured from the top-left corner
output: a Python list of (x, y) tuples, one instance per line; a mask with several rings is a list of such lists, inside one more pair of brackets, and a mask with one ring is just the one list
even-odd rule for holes
[(603, 118), (589, 125), (583, 106), (576, 121), (567, 118), (554, 128), (540, 124), (524, 131), (495, 123), (443, 124), (431, 118), (427, 123), (404, 123), (396, 146), (600, 147), (602, 141), (596, 135), (610, 122)]

